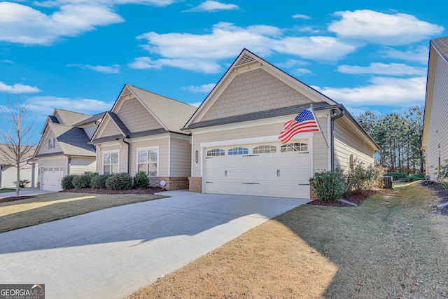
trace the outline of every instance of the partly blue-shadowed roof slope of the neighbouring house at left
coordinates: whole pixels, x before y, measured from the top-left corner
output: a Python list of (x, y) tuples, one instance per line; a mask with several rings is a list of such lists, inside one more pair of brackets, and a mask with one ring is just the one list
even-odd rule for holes
[(88, 144), (90, 141), (85, 131), (79, 127), (71, 127), (69, 125), (48, 124), (52, 132), (61, 146), (64, 155), (95, 155), (95, 147)]

